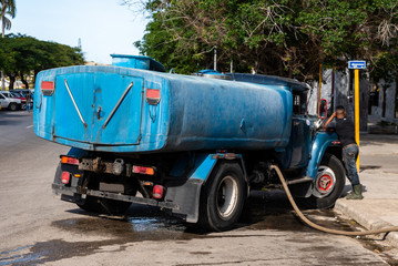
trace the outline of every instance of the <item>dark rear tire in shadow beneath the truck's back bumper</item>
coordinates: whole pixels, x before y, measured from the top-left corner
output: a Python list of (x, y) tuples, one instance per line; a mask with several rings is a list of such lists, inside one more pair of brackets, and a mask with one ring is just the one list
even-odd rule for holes
[(127, 211), (127, 208), (131, 206), (131, 203), (86, 196), (83, 204), (78, 203), (76, 205), (82, 209), (91, 213), (120, 215)]

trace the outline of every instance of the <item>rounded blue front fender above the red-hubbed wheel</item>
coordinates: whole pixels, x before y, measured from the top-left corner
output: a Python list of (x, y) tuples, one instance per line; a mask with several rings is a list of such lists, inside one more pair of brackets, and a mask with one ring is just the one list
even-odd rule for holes
[(306, 176), (309, 176), (313, 180), (316, 178), (316, 174), (322, 158), (324, 157), (327, 147), (330, 146), (334, 141), (338, 141), (338, 136), (336, 133), (318, 132), (316, 134), (313, 142), (310, 160), (306, 170)]

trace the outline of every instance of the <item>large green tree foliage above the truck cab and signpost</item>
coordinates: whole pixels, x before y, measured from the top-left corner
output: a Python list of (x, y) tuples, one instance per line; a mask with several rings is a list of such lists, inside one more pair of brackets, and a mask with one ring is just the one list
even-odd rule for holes
[[(135, 0), (125, 0), (127, 4)], [(135, 45), (182, 73), (220, 70), (316, 79), (319, 64), (368, 61), (379, 79), (398, 69), (396, 0), (149, 0), (151, 21)]]

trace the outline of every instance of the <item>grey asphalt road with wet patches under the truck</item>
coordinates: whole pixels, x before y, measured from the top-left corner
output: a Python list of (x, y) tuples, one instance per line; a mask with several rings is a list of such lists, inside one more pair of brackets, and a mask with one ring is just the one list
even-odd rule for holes
[[(146, 206), (133, 205), (124, 217), (83, 212), (52, 196), (65, 152), (34, 135), (31, 113), (0, 112), (0, 266), (392, 264), (373, 242), (303, 225), (278, 192), (254, 193), (236, 228), (224, 233), (206, 234)], [(350, 229), (331, 211), (307, 215)]]

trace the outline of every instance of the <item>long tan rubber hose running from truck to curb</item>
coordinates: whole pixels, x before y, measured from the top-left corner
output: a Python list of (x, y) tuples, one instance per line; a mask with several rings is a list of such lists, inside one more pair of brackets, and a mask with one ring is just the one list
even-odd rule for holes
[(315, 223), (313, 223), (312, 221), (309, 221), (303, 213), (302, 211), (297, 207), (297, 204), (295, 203), (292, 193), (289, 191), (289, 188), (287, 187), (286, 181), (284, 175), (282, 174), (278, 166), (276, 165), (271, 165), (272, 170), (275, 170), (275, 172), (277, 173), (277, 175), (279, 176), (280, 183), (286, 192), (286, 195), (294, 208), (294, 211), (296, 212), (296, 214), (298, 215), (298, 217), (306, 223), (308, 226), (325, 232), (325, 233), (329, 233), (329, 234), (334, 234), (334, 235), (346, 235), (346, 236), (363, 236), (363, 235), (375, 235), (375, 234), (380, 234), (380, 233), (388, 233), (388, 232), (398, 232), (398, 226), (394, 226), (394, 227), (388, 227), (388, 228), (384, 228), (384, 229), (374, 229), (374, 231), (356, 231), (356, 232), (346, 232), (346, 231), (337, 231), (337, 229), (330, 229), (330, 228), (326, 228), (323, 227), (320, 225), (317, 225)]

